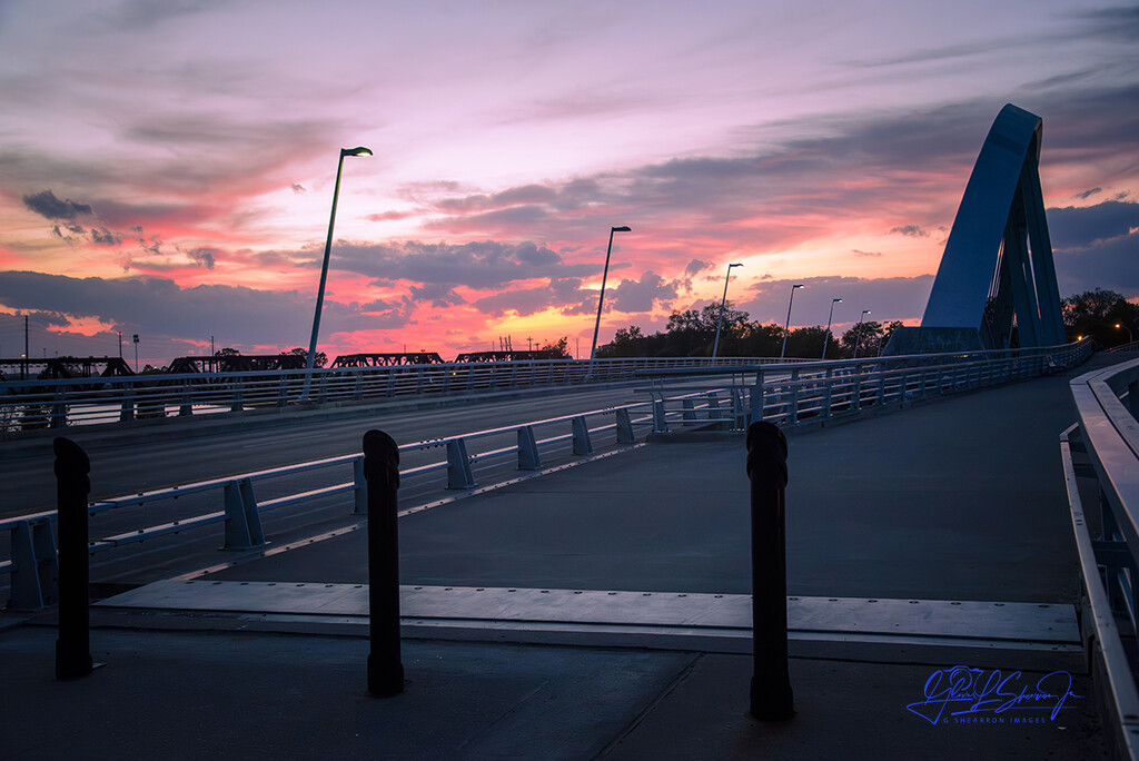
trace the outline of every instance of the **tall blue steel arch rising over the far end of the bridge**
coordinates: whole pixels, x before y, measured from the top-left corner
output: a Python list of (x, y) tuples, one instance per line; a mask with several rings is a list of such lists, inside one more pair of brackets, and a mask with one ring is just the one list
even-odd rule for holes
[(981, 146), (945, 243), (920, 328), (888, 353), (1005, 349), (1065, 342), (1040, 188), (1039, 116), (1001, 108)]

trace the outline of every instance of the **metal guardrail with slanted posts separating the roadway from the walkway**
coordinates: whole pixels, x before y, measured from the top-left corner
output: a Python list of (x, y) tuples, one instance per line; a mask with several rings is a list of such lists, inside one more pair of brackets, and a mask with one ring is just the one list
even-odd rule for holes
[[(574, 456), (590, 455), (593, 437), (609, 432), (614, 443), (623, 445), (637, 440), (638, 429), (667, 433), (670, 425), (719, 424), (743, 429), (763, 419), (795, 426), (812, 419), (858, 415), (888, 404), (1034, 377), (1082, 361), (1089, 352), (1090, 342), (1085, 341), (1071, 346), (1018, 352), (844, 360), (810, 366), (704, 367), (686, 374), (716, 376), (712, 379), (720, 385), (706, 383), (694, 390), (673, 388), (673, 392), (690, 393), (672, 396), (664, 394), (663, 386), (658, 385), (662, 376), (654, 370), (650, 374), (655, 384), (653, 395), (646, 402), (404, 444), (400, 447), (404, 459), (407, 455), (432, 449), (444, 450), (445, 459), (407, 467), (401, 470), (401, 477), (408, 481), (445, 473), (448, 489), (472, 489), (476, 485), (475, 467), (484, 463), (515, 457), (518, 469), (535, 470), (543, 467), (543, 452), (568, 444)], [(730, 385), (723, 385), (726, 380), (730, 380)], [(562, 432), (548, 433), (557, 428)], [(473, 444), (482, 449), (472, 453)], [(95, 554), (222, 522), (227, 548), (257, 547), (265, 541), (261, 513), (342, 494), (352, 494), (353, 512), (363, 513), (367, 508), (362, 457), (344, 455), (93, 502), (89, 509), (92, 516), (122, 507), (220, 491), (223, 509), (105, 537), (92, 541), (90, 551)], [(323, 468), (350, 468), (352, 480), (268, 500), (256, 498), (259, 483)], [(36, 608), (51, 600), (56, 562), (54, 517), (55, 512), (48, 510), (0, 521), (0, 531), (8, 530), (11, 535), (11, 559), (0, 562), (0, 574), (13, 575), (13, 607)]]

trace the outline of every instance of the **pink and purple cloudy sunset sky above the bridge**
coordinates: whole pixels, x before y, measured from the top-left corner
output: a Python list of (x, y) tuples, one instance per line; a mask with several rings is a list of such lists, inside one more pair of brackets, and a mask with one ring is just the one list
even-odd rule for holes
[(0, 0), (0, 355), (920, 321), (1000, 108), (1063, 296), (1139, 298), (1139, 6)]

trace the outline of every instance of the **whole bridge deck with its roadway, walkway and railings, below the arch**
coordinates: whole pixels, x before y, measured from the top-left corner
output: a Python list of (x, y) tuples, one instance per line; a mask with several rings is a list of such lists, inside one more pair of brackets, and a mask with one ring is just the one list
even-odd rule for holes
[[(112, 422), (43, 392), (54, 428), (0, 441), (0, 736), (17, 758), (1136, 758), (1139, 359), (1089, 354), (345, 368), (309, 406), (280, 370), (150, 419), (112, 378)], [(782, 722), (746, 715), (759, 420), (788, 435)], [(369, 428), (401, 444), (409, 684), (383, 701)], [(50, 678), (58, 434), (91, 459), (105, 664), (74, 681)]]

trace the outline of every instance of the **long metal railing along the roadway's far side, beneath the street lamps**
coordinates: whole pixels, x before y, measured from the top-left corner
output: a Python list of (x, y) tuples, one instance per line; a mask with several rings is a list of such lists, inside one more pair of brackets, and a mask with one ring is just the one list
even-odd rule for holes
[[(674, 368), (718, 367), (739, 361), (730, 358), (563, 359), (311, 371), (5, 380), (0, 382), (0, 436), (18, 436), (24, 431), (38, 428), (63, 429), (76, 425), (129, 423), (167, 416), (628, 380), (638, 370), (646, 368), (667, 371)], [(780, 360), (748, 361), (759, 363)], [(310, 374), (310, 395), (305, 399), (305, 378)]]

